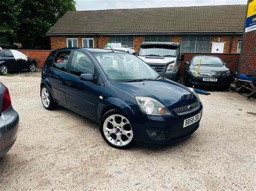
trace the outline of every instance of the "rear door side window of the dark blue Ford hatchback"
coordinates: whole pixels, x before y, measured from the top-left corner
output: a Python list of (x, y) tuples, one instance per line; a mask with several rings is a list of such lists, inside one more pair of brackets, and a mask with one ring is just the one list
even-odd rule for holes
[(66, 72), (71, 51), (58, 52), (53, 60), (52, 67)]

